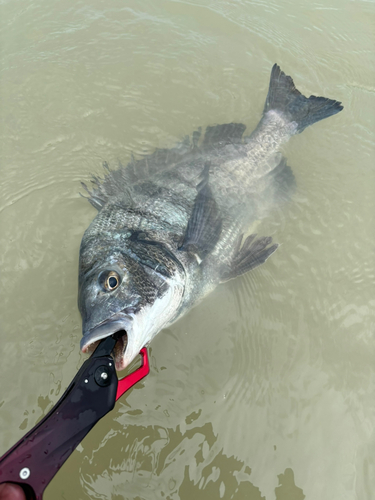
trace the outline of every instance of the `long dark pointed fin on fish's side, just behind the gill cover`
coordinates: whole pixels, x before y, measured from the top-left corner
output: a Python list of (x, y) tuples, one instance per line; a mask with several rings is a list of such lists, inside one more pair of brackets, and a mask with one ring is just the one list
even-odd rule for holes
[(198, 194), (194, 201), (184, 239), (179, 250), (196, 254), (203, 259), (218, 242), (222, 229), (219, 208), (208, 185), (209, 162), (203, 169), (203, 180), (198, 184)]

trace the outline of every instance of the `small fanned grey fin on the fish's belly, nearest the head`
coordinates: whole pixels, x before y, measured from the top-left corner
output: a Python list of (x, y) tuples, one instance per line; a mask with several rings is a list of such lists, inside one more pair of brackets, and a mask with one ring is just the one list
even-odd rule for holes
[(243, 243), (242, 239), (243, 234), (237, 239), (232, 262), (228, 270), (222, 275), (221, 282), (236, 278), (254, 269), (254, 267), (260, 266), (278, 247), (277, 244), (268, 246), (272, 243), (270, 236), (256, 239), (256, 234), (251, 234)]

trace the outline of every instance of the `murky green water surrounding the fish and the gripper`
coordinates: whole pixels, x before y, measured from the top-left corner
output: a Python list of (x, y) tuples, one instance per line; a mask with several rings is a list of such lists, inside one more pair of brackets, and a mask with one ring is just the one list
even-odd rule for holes
[(373, 2), (1, 2), (0, 454), (78, 367), (79, 181), (198, 126), (258, 122), (274, 62), (344, 112), (285, 147), (281, 243), (151, 346), (55, 499), (366, 500), (375, 491)]

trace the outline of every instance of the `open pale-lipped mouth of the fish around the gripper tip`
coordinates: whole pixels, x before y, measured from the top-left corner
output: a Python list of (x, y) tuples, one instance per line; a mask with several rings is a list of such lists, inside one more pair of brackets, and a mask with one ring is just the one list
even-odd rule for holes
[[(118, 318), (118, 319), (117, 319)], [(125, 362), (125, 351), (128, 345), (129, 332), (132, 329), (133, 318), (130, 316), (119, 315), (112, 317), (100, 325), (88, 330), (81, 339), (81, 351), (91, 354), (95, 351), (99, 342), (110, 335), (116, 334), (118, 337), (113, 349), (113, 357), (116, 370), (123, 370), (128, 363)]]

